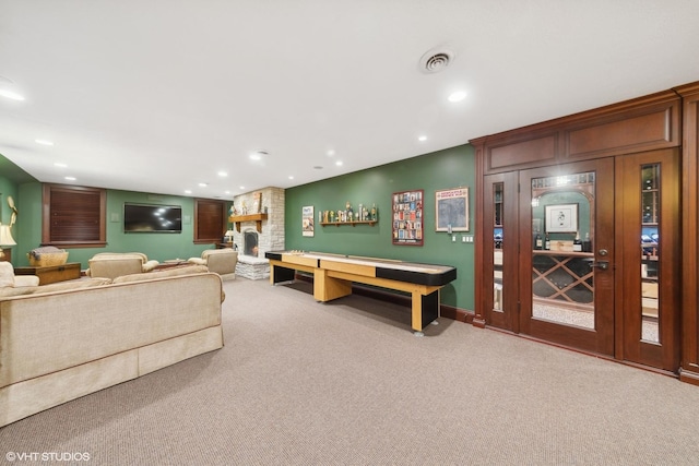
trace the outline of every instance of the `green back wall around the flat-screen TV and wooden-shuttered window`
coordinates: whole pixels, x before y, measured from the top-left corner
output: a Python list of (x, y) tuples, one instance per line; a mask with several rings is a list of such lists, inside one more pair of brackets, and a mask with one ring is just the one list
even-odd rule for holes
[[(12, 250), (12, 263), (15, 266), (23, 266), (28, 265), (26, 253), (39, 247), (42, 242), (42, 183), (21, 184), (15, 201), (20, 215), (13, 231), (17, 246)], [(125, 234), (122, 217), (125, 202), (181, 205), (182, 232)], [(4, 216), (4, 211), (2, 215)], [(194, 200), (192, 198), (107, 190), (107, 246), (105, 248), (66, 248), (69, 251), (68, 261), (80, 262), (82, 268), (87, 268), (90, 258), (97, 252), (106, 251), (143, 252), (149, 259), (159, 262), (199, 256), (204, 249), (212, 249), (214, 244), (194, 244), (193, 218)]]

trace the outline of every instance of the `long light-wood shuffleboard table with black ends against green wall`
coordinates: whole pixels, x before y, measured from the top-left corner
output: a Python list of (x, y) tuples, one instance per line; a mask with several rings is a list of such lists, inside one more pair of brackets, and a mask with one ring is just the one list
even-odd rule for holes
[(322, 252), (270, 251), (264, 255), (272, 285), (293, 280), (296, 271), (312, 274), (317, 301), (351, 295), (355, 282), (410, 292), (412, 328), (418, 336), (439, 316), (439, 289), (457, 278), (457, 268), (449, 265)]

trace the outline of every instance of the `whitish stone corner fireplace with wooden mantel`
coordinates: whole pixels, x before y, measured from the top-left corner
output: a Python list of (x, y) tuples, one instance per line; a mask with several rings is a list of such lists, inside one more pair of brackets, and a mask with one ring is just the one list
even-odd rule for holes
[[(241, 222), (240, 231), (236, 225), (230, 225), (234, 231), (233, 242), (238, 247), (238, 265), (236, 274), (250, 278), (262, 279), (270, 276), (270, 264), (264, 258), (266, 251), (284, 250), (284, 190), (282, 188), (264, 188), (235, 196), (236, 208), (242, 205), (253, 206), (256, 194), (261, 194), (260, 211), (265, 212), (266, 219), (259, 224), (256, 220)], [(249, 212), (248, 214), (252, 214)]]

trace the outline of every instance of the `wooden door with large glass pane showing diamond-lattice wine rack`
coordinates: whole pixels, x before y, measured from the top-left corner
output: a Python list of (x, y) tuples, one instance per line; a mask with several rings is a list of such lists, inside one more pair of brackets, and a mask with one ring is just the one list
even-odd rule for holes
[(520, 186), (522, 333), (612, 355), (614, 160), (522, 170)]

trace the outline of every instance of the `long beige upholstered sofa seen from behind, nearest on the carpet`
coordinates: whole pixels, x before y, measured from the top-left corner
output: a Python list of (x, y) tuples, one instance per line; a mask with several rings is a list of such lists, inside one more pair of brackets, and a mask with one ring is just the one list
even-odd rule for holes
[(0, 288), (0, 427), (221, 348), (223, 299), (201, 266)]

